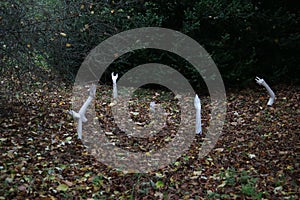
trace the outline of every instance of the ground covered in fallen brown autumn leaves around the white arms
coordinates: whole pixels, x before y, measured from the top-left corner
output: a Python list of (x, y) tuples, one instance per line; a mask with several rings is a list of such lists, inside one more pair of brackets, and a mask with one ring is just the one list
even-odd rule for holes
[[(170, 93), (146, 90), (132, 98), (131, 119), (140, 126), (149, 123), (150, 100), (168, 113), (164, 131), (134, 138), (112, 122), (111, 89), (98, 86), (95, 103), (97, 120), (111, 143), (147, 152), (172, 142), (180, 108)], [(107, 167), (91, 155), (66, 112), (71, 109), (70, 88), (37, 83), (31, 92), (2, 96), (0, 199), (299, 199), (300, 88), (278, 85), (273, 90), (272, 107), (266, 105), (263, 87), (228, 92), (222, 135), (204, 157), (199, 152), (210, 101), (201, 96), (203, 134), (177, 160), (148, 173)]]

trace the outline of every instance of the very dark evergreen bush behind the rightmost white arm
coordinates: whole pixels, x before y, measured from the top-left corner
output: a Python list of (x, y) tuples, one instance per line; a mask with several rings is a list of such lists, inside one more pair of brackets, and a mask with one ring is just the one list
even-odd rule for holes
[(183, 32), (212, 54), (228, 85), (253, 82), (256, 75), (297, 82), (298, 19), (279, 2), (264, 8), (251, 1), (202, 0), (185, 11)]

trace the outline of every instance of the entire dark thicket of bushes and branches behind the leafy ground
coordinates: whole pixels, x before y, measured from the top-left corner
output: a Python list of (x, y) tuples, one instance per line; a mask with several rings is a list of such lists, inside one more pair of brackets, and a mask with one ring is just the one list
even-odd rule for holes
[[(253, 82), (256, 75), (273, 83), (299, 83), (297, 1), (6, 0), (0, 5), (1, 71), (10, 72), (12, 81), (21, 82), (33, 71), (42, 74), (45, 66), (74, 80), (86, 55), (106, 38), (159, 26), (203, 45), (227, 85)], [(149, 61), (179, 69), (199, 85), (192, 66), (167, 52), (136, 51), (109, 70), (122, 73)]]

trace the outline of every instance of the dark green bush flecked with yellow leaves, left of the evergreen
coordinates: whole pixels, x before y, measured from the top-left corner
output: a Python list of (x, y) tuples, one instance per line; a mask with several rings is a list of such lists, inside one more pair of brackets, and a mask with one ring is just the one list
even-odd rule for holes
[[(70, 3), (68, 13), (76, 17), (64, 20), (61, 32), (65, 37), (58, 35), (50, 42), (51, 66), (73, 80), (87, 54), (106, 38), (137, 27), (160, 26), (162, 18), (155, 15), (155, 5), (144, 6), (141, 13), (141, 6), (136, 3)], [(125, 58), (119, 61), (126, 62)]]

